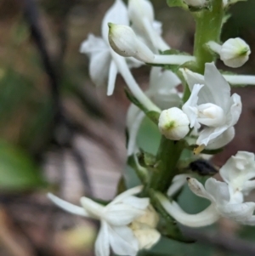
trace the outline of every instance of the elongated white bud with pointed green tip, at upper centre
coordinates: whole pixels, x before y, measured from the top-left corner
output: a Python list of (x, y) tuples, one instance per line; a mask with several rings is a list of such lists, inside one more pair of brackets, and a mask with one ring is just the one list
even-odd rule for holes
[(134, 57), (143, 62), (152, 62), (154, 54), (129, 26), (109, 23), (109, 43), (111, 48), (123, 57)]

